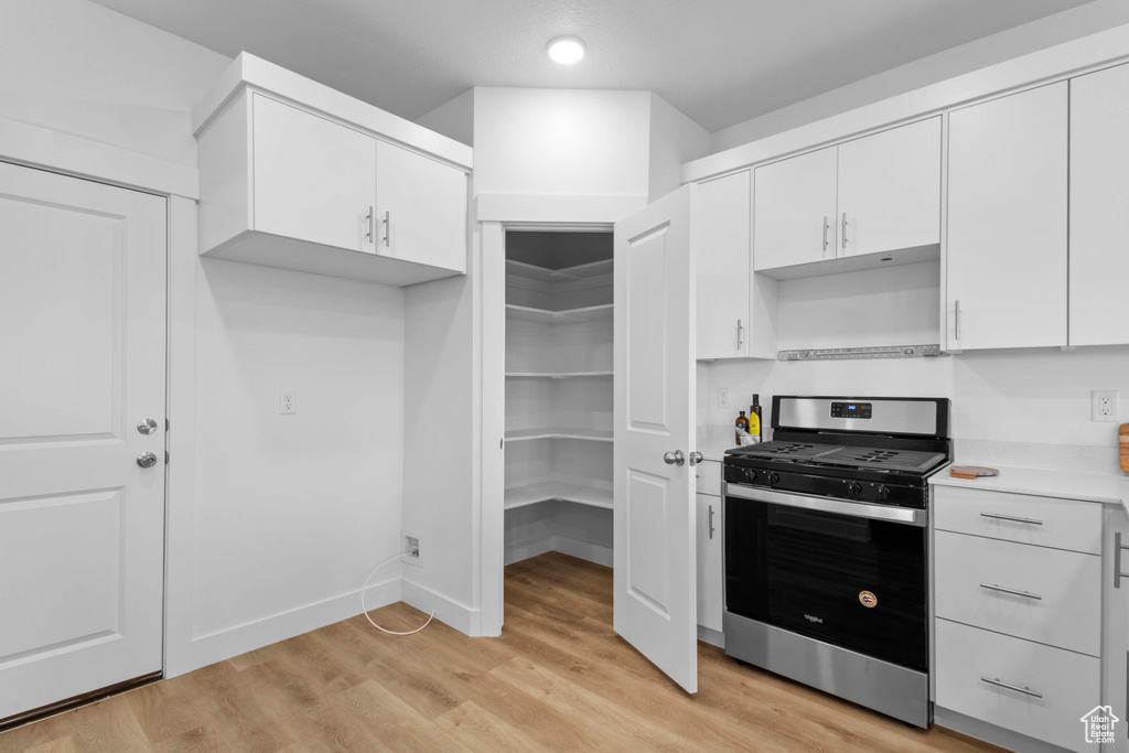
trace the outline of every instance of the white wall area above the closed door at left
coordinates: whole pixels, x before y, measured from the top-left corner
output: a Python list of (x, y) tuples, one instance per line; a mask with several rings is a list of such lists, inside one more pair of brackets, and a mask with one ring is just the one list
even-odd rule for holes
[(195, 165), (191, 110), (231, 62), (87, 0), (3, 0), (0, 117)]

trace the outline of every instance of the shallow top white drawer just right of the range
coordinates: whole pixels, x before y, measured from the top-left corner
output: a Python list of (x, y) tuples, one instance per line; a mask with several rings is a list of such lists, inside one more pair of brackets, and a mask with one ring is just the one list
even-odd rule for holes
[(938, 531), (1102, 553), (1102, 506), (1092, 502), (935, 487), (933, 519)]

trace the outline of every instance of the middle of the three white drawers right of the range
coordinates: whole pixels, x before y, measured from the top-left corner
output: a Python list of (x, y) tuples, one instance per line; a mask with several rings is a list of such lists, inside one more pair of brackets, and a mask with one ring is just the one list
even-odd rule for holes
[(1101, 654), (1102, 558), (945, 531), (935, 550), (938, 618)]

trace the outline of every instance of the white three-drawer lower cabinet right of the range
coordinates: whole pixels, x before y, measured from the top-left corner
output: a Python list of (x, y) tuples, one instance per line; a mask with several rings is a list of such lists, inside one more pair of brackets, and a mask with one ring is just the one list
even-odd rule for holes
[(1007, 746), (1021, 745), (1006, 738), (1017, 733), (1097, 750), (1082, 718), (1103, 704), (1126, 716), (1117, 616), (1124, 606), (1111, 577), (1115, 557), (1103, 548), (1114, 525), (1123, 528), (1118, 516), (1095, 502), (934, 488), (938, 717), (955, 711), (994, 725), (1001, 729), (991, 742)]

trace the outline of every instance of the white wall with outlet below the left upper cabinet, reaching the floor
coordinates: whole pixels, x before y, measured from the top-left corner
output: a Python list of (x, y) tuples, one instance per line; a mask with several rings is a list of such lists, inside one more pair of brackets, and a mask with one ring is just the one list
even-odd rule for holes
[(200, 260), (198, 664), (359, 613), (400, 551), (403, 309), (399, 288)]

